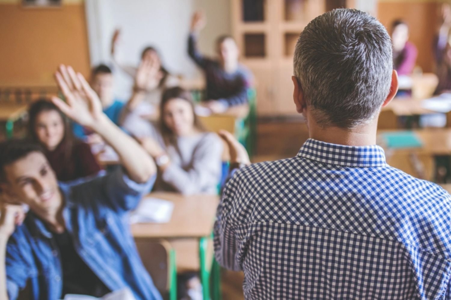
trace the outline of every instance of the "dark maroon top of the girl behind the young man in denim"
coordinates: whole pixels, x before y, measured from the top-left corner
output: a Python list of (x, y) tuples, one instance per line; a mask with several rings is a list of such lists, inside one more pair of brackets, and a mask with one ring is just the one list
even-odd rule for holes
[(46, 151), (45, 154), (55, 171), (56, 178), (62, 182), (95, 175), (101, 170), (91, 152), (91, 147), (81, 141), (75, 142), (72, 155), (68, 158), (64, 155), (61, 144), (53, 151)]

